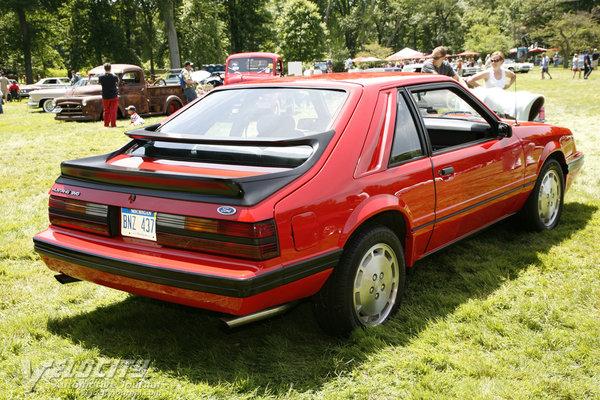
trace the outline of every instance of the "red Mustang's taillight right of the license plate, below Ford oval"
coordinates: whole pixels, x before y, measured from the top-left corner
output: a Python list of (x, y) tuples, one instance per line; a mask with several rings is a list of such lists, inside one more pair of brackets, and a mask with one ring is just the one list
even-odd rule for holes
[(156, 240), (165, 246), (251, 260), (279, 255), (273, 220), (246, 223), (158, 213)]

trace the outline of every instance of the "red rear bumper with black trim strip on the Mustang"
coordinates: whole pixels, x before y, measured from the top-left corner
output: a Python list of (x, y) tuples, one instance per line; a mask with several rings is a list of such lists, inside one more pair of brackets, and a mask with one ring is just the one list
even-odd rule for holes
[(125, 260), (114, 256), (118, 251), (106, 248), (106, 252), (98, 252), (98, 246), (83, 250), (54, 240), (57, 237), (60, 234), (55, 235), (50, 228), (33, 239), (36, 252), (51, 270), (130, 293), (236, 315), (313, 295), (341, 255), (338, 250), (267, 272), (258, 270), (236, 277), (239, 270), (223, 270), (217, 275), (203, 271), (202, 263), (196, 270), (161, 265), (163, 258), (158, 255), (146, 257), (143, 262)]

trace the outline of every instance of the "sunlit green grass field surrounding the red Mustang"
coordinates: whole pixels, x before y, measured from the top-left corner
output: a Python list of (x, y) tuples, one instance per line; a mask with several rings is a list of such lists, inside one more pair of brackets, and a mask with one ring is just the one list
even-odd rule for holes
[(392, 321), (346, 340), (325, 336), (307, 303), (225, 332), (214, 313), (58, 284), (31, 238), (48, 224), (59, 164), (116, 149), (128, 122), (57, 122), (6, 104), (0, 398), (600, 398), (600, 72), (551, 73), (517, 85), (544, 94), (549, 122), (586, 154), (561, 224), (539, 234), (509, 220), (419, 261)]

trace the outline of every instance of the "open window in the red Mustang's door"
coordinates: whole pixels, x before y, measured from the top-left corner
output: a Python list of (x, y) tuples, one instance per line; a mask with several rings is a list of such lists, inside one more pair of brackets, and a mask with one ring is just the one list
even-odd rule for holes
[(418, 90), (413, 91), (412, 96), (434, 152), (489, 140), (493, 136), (490, 124), (457, 92)]

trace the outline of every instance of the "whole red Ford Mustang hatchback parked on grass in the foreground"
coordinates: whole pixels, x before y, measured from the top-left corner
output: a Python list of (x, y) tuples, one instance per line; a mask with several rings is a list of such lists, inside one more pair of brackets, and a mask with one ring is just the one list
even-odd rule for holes
[(225, 85), (64, 161), (35, 250), (87, 280), (233, 314), (312, 298), (333, 334), (387, 321), (405, 267), (520, 213), (553, 229), (583, 165), (567, 128), (500, 119), (434, 74)]

